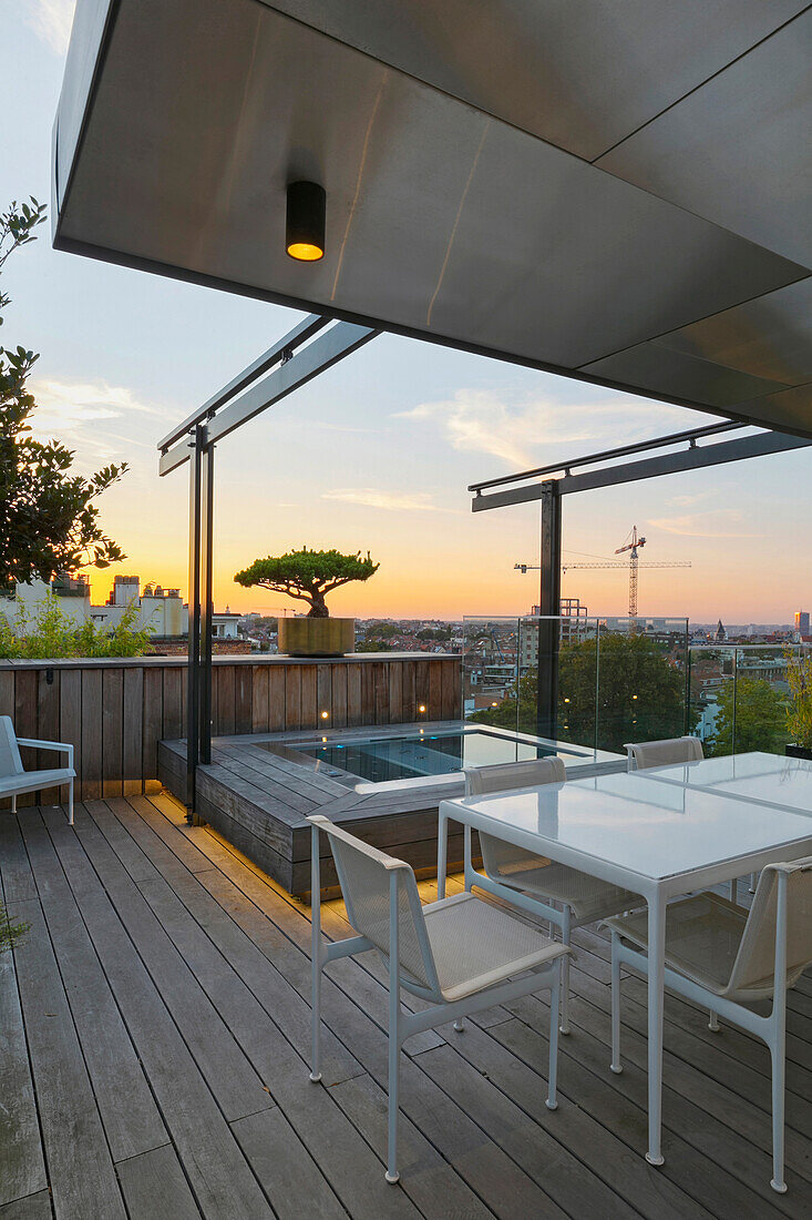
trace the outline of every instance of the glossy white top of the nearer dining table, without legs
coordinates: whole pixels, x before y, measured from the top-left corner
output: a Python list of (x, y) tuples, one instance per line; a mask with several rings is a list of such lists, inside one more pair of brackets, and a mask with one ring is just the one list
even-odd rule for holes
[(450, 817), (458, 808), (471, 810), (477, 822), (493, 821), (495, 836), (499, 826), (538, 836), (552, 858), (558, 844), (651, 881), (785, 844), (792, 859), (802, 852), (791, 844), (808, 850), (812, 839), (810, 820), (800, 814), (773, 810), (766, 817), (763, 806), (741, 799), (627, 773), (467, 797), (444, 806)]

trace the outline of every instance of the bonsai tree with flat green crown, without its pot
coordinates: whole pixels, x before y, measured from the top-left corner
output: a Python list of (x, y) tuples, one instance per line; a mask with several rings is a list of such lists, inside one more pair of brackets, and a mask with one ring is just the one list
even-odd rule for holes
[(257, 586), (272, 593), (284, 593), (289, 598), (308, 601), (308, 619), (329, 619), (324, 598), (340, 584), (351, 581), (368, 581), (380, 567), (373, 564), (367, 551), (343, 555), (338, 550), (289, 550), (285, 555), (255, 559), (250, 567), (234, 577), (245, 588)]

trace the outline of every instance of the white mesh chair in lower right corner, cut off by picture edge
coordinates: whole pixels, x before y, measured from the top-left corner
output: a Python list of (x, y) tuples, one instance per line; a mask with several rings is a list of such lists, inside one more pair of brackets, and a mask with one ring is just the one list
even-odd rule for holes
[[(647, 972), (645, 913), (612, 928), (612, 1071), (621, 1068), (621, 966)], [(812, 965), (812, 856), (762, 871), (750, 913), (707, 892), (666, 916), (666, 987), (761, 1038), (773, 1065), (773, 1179), (783, 1194), (786, 989)], [(772, 999), (769, 1016), (745, 1005)]]

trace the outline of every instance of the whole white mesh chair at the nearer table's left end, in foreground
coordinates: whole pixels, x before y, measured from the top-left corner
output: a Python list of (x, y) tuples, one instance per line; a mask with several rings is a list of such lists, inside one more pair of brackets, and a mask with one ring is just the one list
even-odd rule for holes
[[(415, 874), (404, 860), (347, 834), (327, 817), (312, 824), (312, 1070), (319, 1081), (322, 970), (337, 958), (379, 949), (389, 971), (389, 1153), (386, 1181), (397, 1172), (400, 1049), (415, 1033), (549, 988), (550, 1071), (547, 1108), (555, 1110), (561, 960), (569, 952), (515, 915), (473, 894), (423, 906)], [(319, 831), (330, 842), (350, 924), (357, 936), (324, 944), (321, 935)], [(519, 977), (516, 977), (516, 976)], [(432, 1005), (401, 1009), (400, 989)]]

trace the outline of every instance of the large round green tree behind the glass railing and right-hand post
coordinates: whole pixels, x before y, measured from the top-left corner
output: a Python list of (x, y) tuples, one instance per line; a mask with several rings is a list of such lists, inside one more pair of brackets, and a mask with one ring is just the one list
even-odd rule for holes
[[(484, 723), (536, 731), (536, 670), (497, 708), (477, 712)], [(596, 734), (597, 717), (597, 734)], [(625, 742), (684, 732), (685, 680), (662, 647), (643, 634), (606, 633), (563, 643), (558, 654), (558, 737), (577, 745), (622, 752)]]

